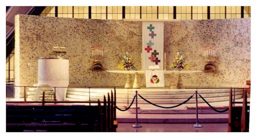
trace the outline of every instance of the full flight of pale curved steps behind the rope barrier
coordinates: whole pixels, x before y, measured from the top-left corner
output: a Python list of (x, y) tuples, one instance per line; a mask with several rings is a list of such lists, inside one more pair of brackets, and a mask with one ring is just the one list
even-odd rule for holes
[[(69, 88), (66, 94), (66, 100), (96, 100), (100, 96), (111, 94), (114, 89), (76, 89)], [(195, 91), (198, 91), (207, 102), (216, 108), (217, 111), (224, 111), (229, 105), (230, 89), (116, 89), (116, 106), (120, 109), (126, 109), (138, 91), (146, 100), (162, 107), (177, 106), (191, 97)], [(243, 89), (233, 89), (236, 100), (243, 97)], [(90, 92), (90, 93), (89, 93)], [(90, 94), (90, 97), (89, 97)], [(153, 106), (142, 100), (138, 96), (138, 122), (139, 123), (196, 123), (196, 96), (193, 95), (190, 101), (174, 108), (160, 108)], [(116, 117), (119, 123), (136, 122), (135, 101), (127, 111), (116, 109)], [(201, 97), (198, 96), (198, 117), (201, 123), (227, 123), (228, 111), (219, 113), (211, 109)]]

